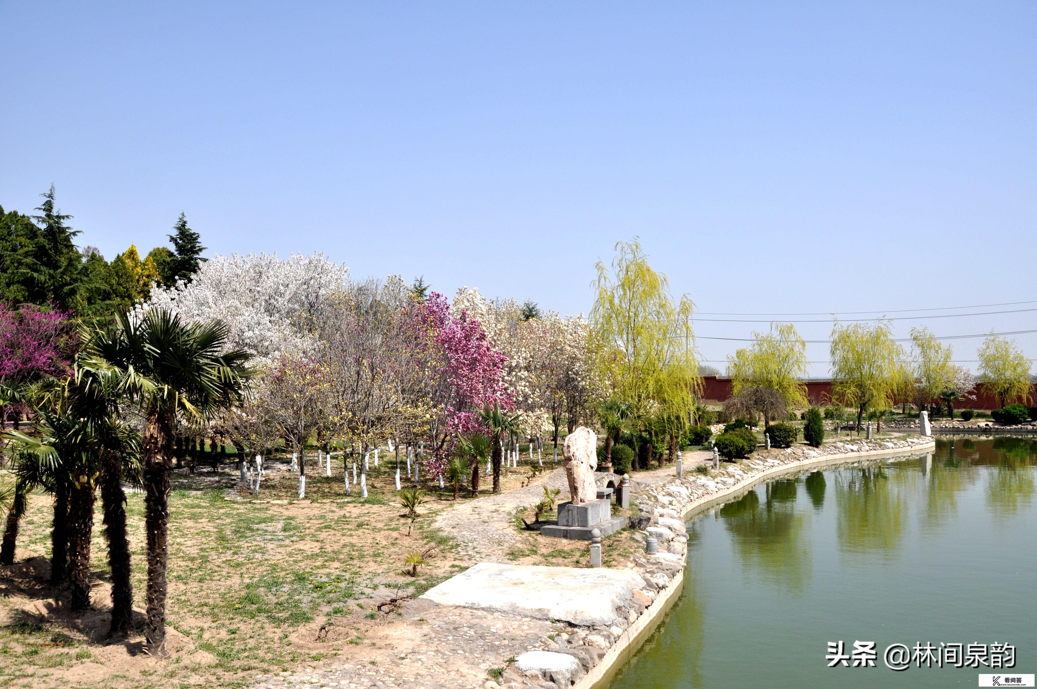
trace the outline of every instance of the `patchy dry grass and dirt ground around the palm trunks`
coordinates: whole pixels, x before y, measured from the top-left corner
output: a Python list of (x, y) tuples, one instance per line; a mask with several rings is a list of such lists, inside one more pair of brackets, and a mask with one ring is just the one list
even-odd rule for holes
[[(291, 503), (284, 501), (297, 497), (298, 474), (281, 460), (269, 462), (261, 502), (247, 501), (251, 495), (236, 487), (233, 464), (175, 472), (168, 660), (143, 654), (142, 494), (130, 493), (128, 504), (137, 634), (119, 643), (105, 638), (110, 571), (100, 501), (91, 546), (92, 609), (74, 614), (66, 591), (47, 583), (51, 499), (31, 495), (16, 564), (0, 568), (0, 687), (245, 686), (257, 676), (375, 653), (374, 639), (401, 622), (394, 599), (420, 595), (476, 561), (431, 526), (439, 513), (472, 499), (463, 491), (454, 503), (449, 487), (440, 490), (438, 483), (422, 480), (426, 502), (412, 524), (396, 502), (393, 458), (383, 454), (380, 466), (370, 467), (366, 500), (356, 487), (345, 496), (341, 458), (335, 458), (331, 477), (315, 464), (307, 467), (308, 500)], [(505, 471), (505, 490), (542, 480), (544, 474), (533, 473), (524, 458), (523, 466)], [(401, 474), (407, 485), (405, 465)], [(492, 484), (484, 480), (481, 488), (480, 494), (488, 495)], [(517, 531), (514, 524), (506, 528)], [(556, 564), (586, 559), (585, 544), (565, 543), (541, 556), (530, 550), (520, 559)], [(416, 577), (404, 572), (413, 552), (427, 560)]]

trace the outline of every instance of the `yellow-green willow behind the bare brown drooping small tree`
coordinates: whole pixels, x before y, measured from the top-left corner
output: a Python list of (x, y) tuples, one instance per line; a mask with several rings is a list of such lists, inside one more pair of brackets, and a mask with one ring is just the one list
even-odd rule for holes
[[(807, 406), (807, 342), (791, 323), (772, 323), (767, 334), (754, 332), (753, 343), (727, 357), (731, 392), (774, 390), (786, 407)], [(769, 419), (767, 419), (769, 421)]]

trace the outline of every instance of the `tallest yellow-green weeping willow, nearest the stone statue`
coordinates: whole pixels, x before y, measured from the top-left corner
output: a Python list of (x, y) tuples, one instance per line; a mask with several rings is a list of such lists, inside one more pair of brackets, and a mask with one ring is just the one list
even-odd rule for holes
[(672, 446), (702, 385), (692, 331), (695, 304), (688, 295), (674, 300), (669, 280), (651, 269), (637, 238), (615, 249), (611, 271), (600, 260), (595, 266), (595, 366), (612, 398), (628, 405), (632, 425), (669, 435)]

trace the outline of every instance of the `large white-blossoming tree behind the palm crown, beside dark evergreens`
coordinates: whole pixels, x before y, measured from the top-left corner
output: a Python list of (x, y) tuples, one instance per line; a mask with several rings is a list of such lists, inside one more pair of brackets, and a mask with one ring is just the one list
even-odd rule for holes
[(217, 255), (195, 273), (190, 283), (156, 287), (138, 312), (165, 307), (188, 321), (219, 319), (227, 324), (228, 349), (243, 349), (256, 363), (271, 364), (279, 356), (312, 344), (314, 322), (329, 297), (344, 287), (348, 269), (323, 253)]

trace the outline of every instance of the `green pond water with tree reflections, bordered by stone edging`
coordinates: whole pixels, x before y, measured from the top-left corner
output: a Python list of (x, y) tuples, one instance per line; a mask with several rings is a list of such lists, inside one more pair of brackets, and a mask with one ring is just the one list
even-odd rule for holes
[[(917, 642), (1010, 643), (1009, 671), (1037, 672), (1035, 473), (1037, 441), (937, 440), (694, 518), (684, 590), (612, 686), (975, 687), (998, 671), (886, 666), (887, 646)], [(839, 640), (874, 641), (876, 667), (828, 667)]]

